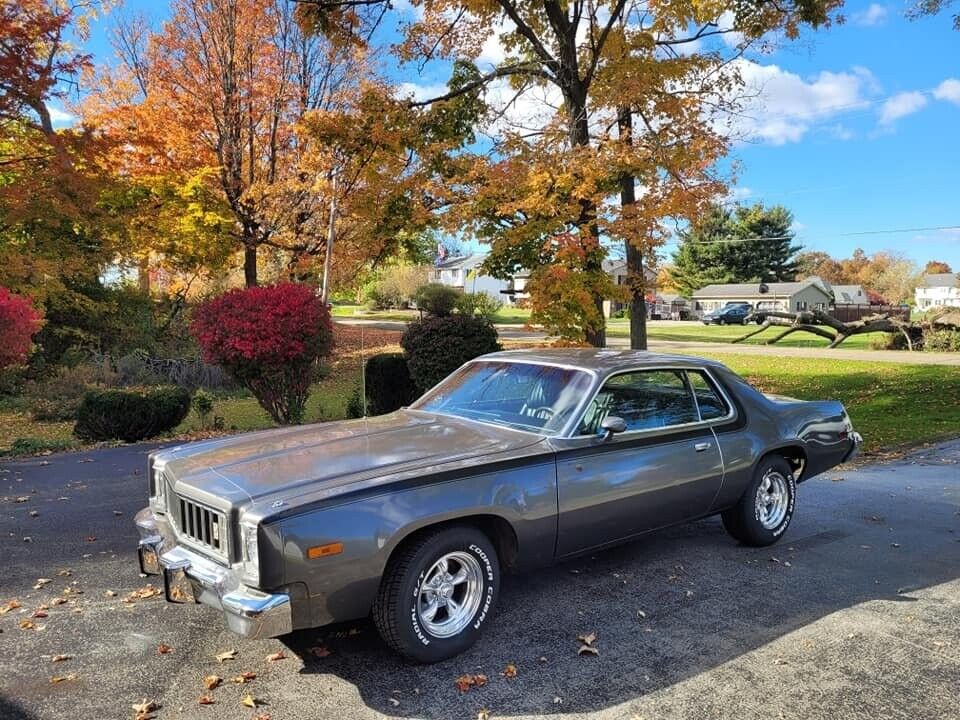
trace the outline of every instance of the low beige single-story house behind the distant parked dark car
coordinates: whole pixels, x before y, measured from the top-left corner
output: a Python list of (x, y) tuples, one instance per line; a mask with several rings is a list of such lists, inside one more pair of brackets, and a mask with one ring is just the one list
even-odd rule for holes
[(833, 293), (818, 277), (797, 282), (707, 285), (693, 293), (693, 310), (697, 315), (731, 302), (750, 303), (757, 310), (827, 310), (833, 302)]

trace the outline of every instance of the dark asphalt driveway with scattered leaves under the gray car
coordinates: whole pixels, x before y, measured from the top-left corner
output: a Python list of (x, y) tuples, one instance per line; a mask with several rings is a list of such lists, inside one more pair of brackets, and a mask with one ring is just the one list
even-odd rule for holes
[[(804, 483), (773, 548), (709, 519), (509, 577), (481, 642), (433, 666), (367, 622), (244, 641), (144, 597), (145, 454), (0, 464), (0, 609), (21, 605), (0, 615), (0, 718), (132, 718), (143, 699), (158, 719), (960, 718), (960, 441)], [(599, 655), (577, 655), (589, 632)], [(464, 674), (487, 682), (461, 692)]]

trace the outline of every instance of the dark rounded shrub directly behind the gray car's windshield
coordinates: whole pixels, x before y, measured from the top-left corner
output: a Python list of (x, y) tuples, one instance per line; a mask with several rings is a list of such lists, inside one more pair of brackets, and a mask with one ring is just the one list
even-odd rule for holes
[(410, 377), (421, 393), (467, 360), (500, 349), (490, 321), (470, 315), (428, 317), (410, 323), (400, 345), (407, 356)]

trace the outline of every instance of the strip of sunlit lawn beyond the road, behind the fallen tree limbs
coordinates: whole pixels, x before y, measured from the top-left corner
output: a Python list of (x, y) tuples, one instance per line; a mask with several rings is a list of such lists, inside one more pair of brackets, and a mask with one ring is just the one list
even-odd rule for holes
[[(651, 340), (675, 342), (729, 343), (756, 329), (757, 326), (752, 323), (750, 325), (704, 325), (694, 320), (683, 323), (651, 320), (647, 323), (647, 335)], [(759, 335), (754, 335), (741, 344), (763, 345), (767, 340), (776, 337), (777, 334), (781, 332), (783, 332), (781, 328), (767, 328)], [(630, 321), (627, 319), (610, 320), (607, 322), (607, 333), (611, 337), (630, 337)], [(871, 340), (880, 338), (883, 335), (886, 335), (886, 333), (854, 335), (848, 338), (840, 347), (853, 350), (870, 350)], [(824, 338), (811, 335), (810, 333), (794, 333), (777, 343), (777, 345), (783, 347), (827, 347), (829, 344), (830, 343)]]

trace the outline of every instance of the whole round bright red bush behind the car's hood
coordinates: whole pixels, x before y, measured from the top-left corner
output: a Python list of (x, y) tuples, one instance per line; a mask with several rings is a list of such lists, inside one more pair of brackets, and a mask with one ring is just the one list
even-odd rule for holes
[(313, 364), (333, 347), (330, 312), (305, 285), (231, 290), (194, 311), (203, 359), (248, 388), (281, 425), (303, 420)]

